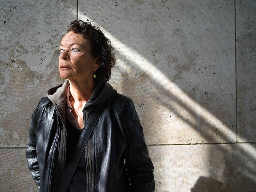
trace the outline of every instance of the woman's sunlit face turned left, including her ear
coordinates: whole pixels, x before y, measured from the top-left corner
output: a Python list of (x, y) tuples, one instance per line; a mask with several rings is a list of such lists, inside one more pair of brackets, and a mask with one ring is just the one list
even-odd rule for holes
[[(99, 65), (92, 57), (89, 41), (73, 31), (65, 34), (60, 43), (59, 70), (62, 79), (92, 80)], [(94, 70), (94, 71), (93, 71)]]

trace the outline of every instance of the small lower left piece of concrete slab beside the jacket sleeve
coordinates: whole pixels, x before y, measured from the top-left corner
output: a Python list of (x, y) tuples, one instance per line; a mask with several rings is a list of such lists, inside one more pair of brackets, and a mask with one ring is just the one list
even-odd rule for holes
[(0, 149), (0, 191), (38, 191), (28, 170), (25, 149)]

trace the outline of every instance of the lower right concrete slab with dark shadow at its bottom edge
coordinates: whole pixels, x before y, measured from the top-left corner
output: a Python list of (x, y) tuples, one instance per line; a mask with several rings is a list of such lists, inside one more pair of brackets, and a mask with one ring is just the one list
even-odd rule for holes
[(256, 145), (149, 146), (157, 192), (256, 191)]

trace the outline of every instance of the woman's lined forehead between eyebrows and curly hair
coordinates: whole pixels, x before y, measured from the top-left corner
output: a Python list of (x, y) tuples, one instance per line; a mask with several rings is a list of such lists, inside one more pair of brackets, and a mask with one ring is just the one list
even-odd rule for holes
[(75, 43), (80, 44), (82, 47), (87, 47), (89, 41), (84, 39), (84, 37), (81, 34), (74, 33), (73, 31), (71, 31), (63, 36), (60, 44), (66, 47)]

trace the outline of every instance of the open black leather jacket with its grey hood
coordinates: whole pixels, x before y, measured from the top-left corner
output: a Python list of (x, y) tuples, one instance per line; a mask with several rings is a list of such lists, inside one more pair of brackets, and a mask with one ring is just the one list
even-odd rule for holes
[[(31, 116), (25, 153), (41, 192), (55, 191), (65, 168), (68, 85), (65, 80), (49, 89)], [(102, 102), (105, 107), (87, 143), (92, 148), (88, 158), (92, 159), (89, 166), (93, 168), (87, 181), (92, 191), (154, 191), (154, 167), (132, 99), (117, 93), (107, 82), (97, 84), (84, 106), (84, 123), (91, 110)]]

